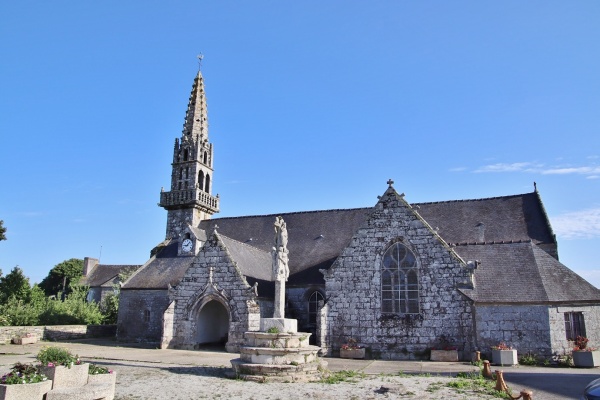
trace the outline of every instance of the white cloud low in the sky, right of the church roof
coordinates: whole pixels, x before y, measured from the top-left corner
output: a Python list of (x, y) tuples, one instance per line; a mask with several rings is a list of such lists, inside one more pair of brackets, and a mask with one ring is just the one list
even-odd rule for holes
[(550, 219), (554, 232), (563, 239), (600, 237), (600, 208), (572, 211)]

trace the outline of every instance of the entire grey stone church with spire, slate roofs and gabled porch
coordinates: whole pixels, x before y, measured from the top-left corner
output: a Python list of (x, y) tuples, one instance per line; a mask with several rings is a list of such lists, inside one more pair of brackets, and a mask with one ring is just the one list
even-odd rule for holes
[[(349, 339), (369, 357), (465, 357), (505, 342), (521, 354), (600, 343), (600, 291), (559, 262), (540, 195), (409, 203), (393, 181), (365, 208), (212, 218), (214, 149), (194, 80), (171, 187), (166, 239), (123, 285), (118, 338), (235, 352), (273, 312), (273, 224), (287, 224), (286, 318), (323, 353)], [(383, 182), (382, 182), (383, 183)]]

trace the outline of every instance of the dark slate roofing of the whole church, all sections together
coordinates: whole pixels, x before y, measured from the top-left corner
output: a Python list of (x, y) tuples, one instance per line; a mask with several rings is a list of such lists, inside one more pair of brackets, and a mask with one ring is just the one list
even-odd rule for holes
[[(475, 272), (476, 289), (463, 292), (478, 302), (547, 303), (600, 300), (598, 289), (560, 264), (537, 245), (555, 246), (554, 233), (537, 192), (477, 200), (412, 204), (463, 260), (482, 262)], [(248, 282), (259, 282), (261, 295), (271, 292), (271, 256), (275, 217), (288, 230), (288, 285), (323, 283), (319, 269), (329, 268), (366, 222), (373, 208), (325, 210), (246, 217), (215, 218), (223, 244)], [(196, 232), (196, 230), (194, 230)], [(501, 244), (500, 242), (506, 242)], [(169, 243), (125, 285), (164, 289), (176, 285), (191, 257), (177, 257)], [(266, 286), (265, 286), (266, 285)], [(262, 289), (262, 290), (261, 290)]]

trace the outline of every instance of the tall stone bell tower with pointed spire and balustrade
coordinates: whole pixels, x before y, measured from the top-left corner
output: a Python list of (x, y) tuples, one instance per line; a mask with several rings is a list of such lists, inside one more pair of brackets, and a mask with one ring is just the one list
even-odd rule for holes
[(208, 117), (204, 78), (198, 71), (185, 114), (183, 132), (175, 139), (171, 190), (160, 193), (160, 207), (167, 210), (166, 238), (179, 238), (188, 227), (219, 212), (219, 196), (212, 196), (213, 146), (208, 141)]

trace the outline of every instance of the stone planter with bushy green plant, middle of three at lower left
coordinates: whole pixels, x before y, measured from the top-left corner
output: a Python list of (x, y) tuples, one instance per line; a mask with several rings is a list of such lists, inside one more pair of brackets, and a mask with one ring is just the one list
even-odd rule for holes
[(82, 363), (77, 355), (57, 346), (43, 347), (36, 356), (39, 370), (52, 379), (52, 389), (80, 387), (88, 381), (88, 363)]

